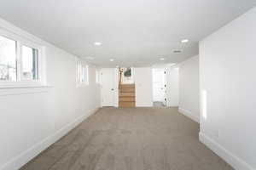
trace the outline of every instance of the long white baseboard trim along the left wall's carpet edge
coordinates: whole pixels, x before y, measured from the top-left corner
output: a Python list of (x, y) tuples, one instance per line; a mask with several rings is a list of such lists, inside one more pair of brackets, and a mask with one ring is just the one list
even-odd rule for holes
[(94, 114), (99, 108), (86, 111), (83, 116), (79, 116), (75, 121), (70, 122), (67, 126), (62, 127), (57, 132), (49, 135), (47, 138), (43, 139), (37, 144), (34, 144), (28, 150), (25, 150), (20, 155), (15, 156), (13, 159), (3, 164), (0, 170), (17, 170), (28, 161), (32, 160), (35, 156), (38, 156), (43, 150), (47, 149), (51, 144), (54, 144), (57, 140), (61, 139), (64, 135), (70, 132), (74, 127), (77, 127), (81, 122), (83, 122), (88, 116)]

